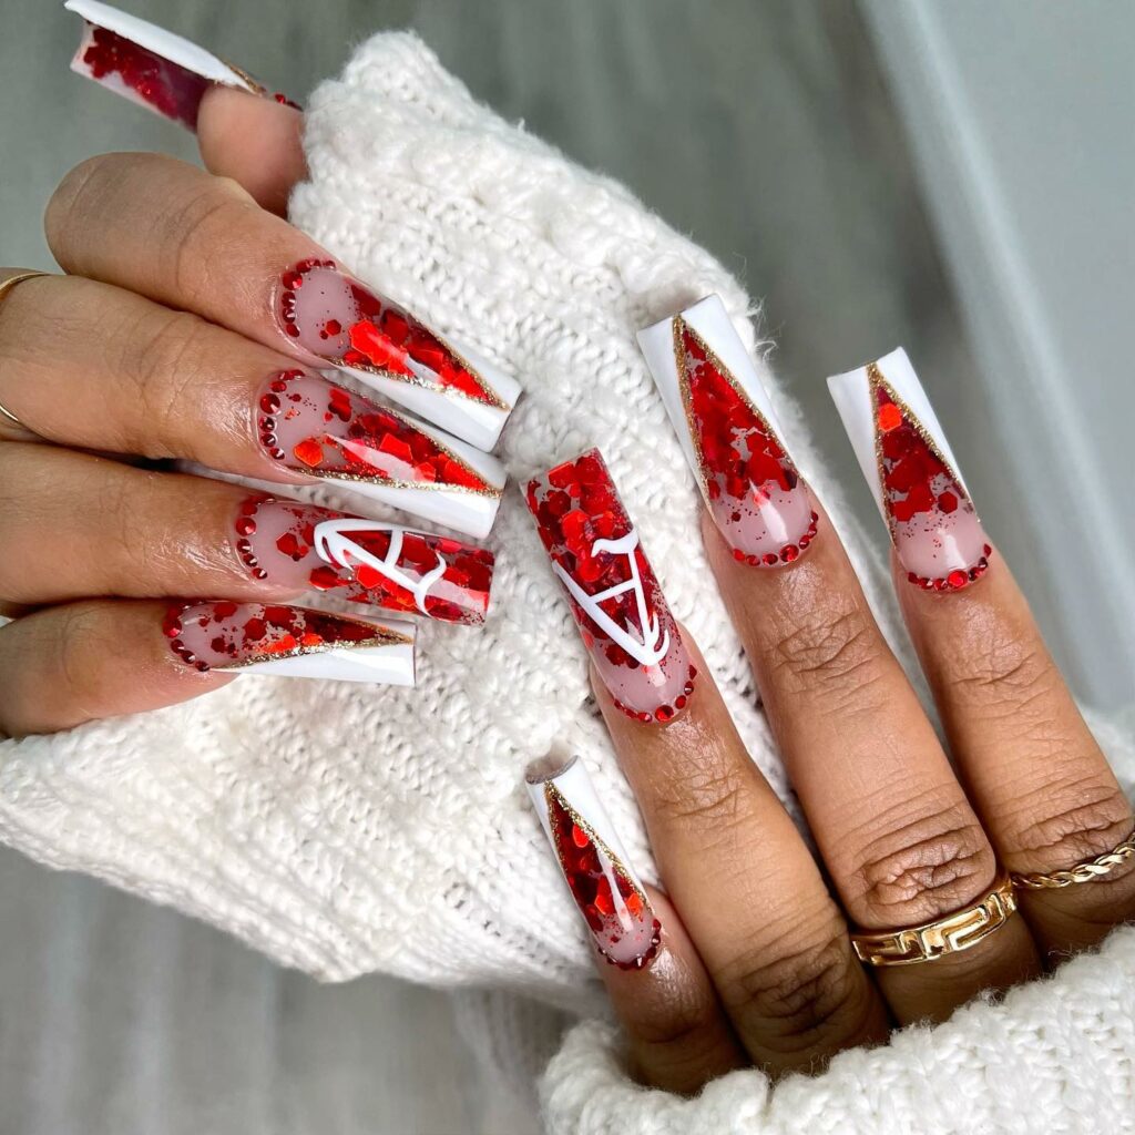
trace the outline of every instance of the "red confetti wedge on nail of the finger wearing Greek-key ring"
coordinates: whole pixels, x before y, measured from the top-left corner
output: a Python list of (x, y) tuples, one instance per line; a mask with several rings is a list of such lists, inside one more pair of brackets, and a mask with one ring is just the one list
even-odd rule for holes
[(808, 493), (772, 427), (705, 340), (673, 321), (674, 355), (709, 511), (735, 560), (776, 566), (816, 535)]

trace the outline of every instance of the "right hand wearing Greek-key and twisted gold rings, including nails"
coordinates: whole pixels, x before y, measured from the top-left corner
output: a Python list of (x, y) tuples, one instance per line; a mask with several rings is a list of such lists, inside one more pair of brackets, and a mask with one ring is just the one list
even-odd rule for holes
[[(818, 861), (670, 615), (599, 455), (528, 490), (665, 892), (638, 882), (578, 762), (533, 766), (530, 792), (612, 962), (599, 968), (634, 1070), (678, 1092), (749, 1063), (813, 1069), (894, 1024), (941, 1020), (1135, 917), (1130, 844), (1077, 872), (1086, 885), (1014, 888), (1000, 873), (1105, 855), (1132, 835), (1132, 807), (936, 420), (909, 409), (925, 397), (905, 355), (833, 393), (877, 479), (952, 764), (715, 303), (640, 339), (705, 490), (701, 537)], [(944, 949), (933, 931), (891, 935), (955, 915), (969, 925)], [(864, 966), (852, 933), (885, 935), (859, 936), (863, 952), (908, 964)]]

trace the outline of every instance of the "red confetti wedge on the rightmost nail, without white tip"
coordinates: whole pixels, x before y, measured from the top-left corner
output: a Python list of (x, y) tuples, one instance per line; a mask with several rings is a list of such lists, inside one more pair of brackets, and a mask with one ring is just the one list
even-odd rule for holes
[(867, 378), (883, 503), (907, 579), (927, 591), (960, 590), (985, 573), (992, 554), (969, 495), (877, 364)]

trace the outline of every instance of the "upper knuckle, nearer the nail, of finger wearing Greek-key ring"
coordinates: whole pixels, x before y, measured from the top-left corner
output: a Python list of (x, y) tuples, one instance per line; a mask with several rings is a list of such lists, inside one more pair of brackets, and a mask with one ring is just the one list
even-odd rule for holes
[(800, 686), (860, 686), (880, 657), (880, 640), (858, 605), (817, 606), (773, 645), (772, 661)]

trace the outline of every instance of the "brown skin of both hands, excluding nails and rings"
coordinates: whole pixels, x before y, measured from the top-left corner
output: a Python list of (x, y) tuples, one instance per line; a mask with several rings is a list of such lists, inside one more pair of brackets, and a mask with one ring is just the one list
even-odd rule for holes
[[(305, 480), (264, 457), (253, 409), (267, 375), (312, 361), (271, 314), (279, 272), (320, 254), (280, 216), (303, 174), (301, 121), (219, 90), (200, 119), (219, 176), (154, 154), (84, 162), (47, 215), (69, 275), (26, 280), (0, 302), (0, 402), (23, 422), (0, 418), (0, 611), (19, 615), (0, 629), (7, 732), (230, 681), (174, 658), (160, 629), (168, 595), (287, 598), (236, 562), (243, 490), (137, 459)], [(708, 518), (704, 537), (821, 863), (745, 751), (688, 632), (700, 673), (673, 722), (633, 722), (594, 683), (666, 888), (650, 893), (663, 925), (654, 961), (600, 964), (645, 1083), (692, 1092), (747, 1063), (816, 1068), (1135, 917), (1127, 868), (1023, 893), (1022, 914), (967, 952), (864, 970), (852, 925), (898, 928), (967, 907), (998, 860), (1053, 871), (1099, 855), (1129, 833), (1130, 806), (999, 557), (957, 594), (896, 575), (951, 764), (826, 516), (807, 554), (774, 570), (738, 564)]]

